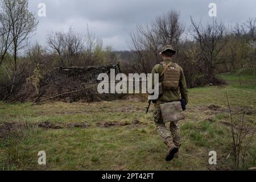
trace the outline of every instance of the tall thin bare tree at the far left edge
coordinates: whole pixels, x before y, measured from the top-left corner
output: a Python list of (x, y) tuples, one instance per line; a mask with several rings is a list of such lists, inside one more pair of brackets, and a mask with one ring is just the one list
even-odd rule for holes
[(0, 34), (1, 34), (1, 66), (7, 51), (13, 53), (14, 71), (5, 71), (10, 80), (10, 92), (13, 92), (18, 75), (17, 58), (18, 51), (27, 45), (27, 40), (32, 32), (36, 30), (38, 20), (36, 16), (28, 11), (28, 0), (1, 0)]

